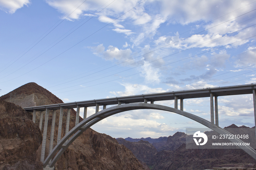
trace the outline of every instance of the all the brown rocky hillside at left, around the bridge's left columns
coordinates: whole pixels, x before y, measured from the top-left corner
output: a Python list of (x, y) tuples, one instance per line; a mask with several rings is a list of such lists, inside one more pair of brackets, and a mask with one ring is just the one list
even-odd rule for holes
[[(54, 96), (48, 90), (35, 83), (25, 84), (10, 93), (1, 96), (0, 100), (14, 103), (12, 104), (3, 101), (4, 103), (7, 103), (5, 104), (6, 108), (17, 107), (20, 110), (20, 114), (17, 115), (16, 112), (12, 112), (14, 109), (5, 109), (6, 112), (4, 112), (4, 116), (2, 116), (3, 118), (1, 117), (0, 119), (2, 128), (0, 135), (3, 134), (3, 136), (0, 138), (0, 169), (5, 170), (9, 167), (10, 170), (42, 169), (42, 163), (38, 160), (40, 160), (41, 155), (41, 133), (44, 131), (44, 123), (42, 125), (42, 131), (40, 132), (37, 125), (39, 121), (39, 113), (37, 112), (38, 115), (36, 124), (34, 124), (31, 120), (32, 114), (25, 112), (21, 107), (57, 104), (63, 103), (63, 101)], [(15, 104), (21, 107), (15, 106)], [(0, 110), (4, 109), (1, 108)], [(62, 137), (65, 133), (66, 115), (67, 111), (64, 109)], [(75, 115), (76, 112), (74, 109), (72, 109), (69, 130), (75, 125)], [(8, 116), (12, 117), (15, 121), (6, 118)], [(1, 121), (3, 121), (6, 126), (9, 125), (10, 129), (14, 130), (11, 130), (11, 132), (9, 132), (9, 130), (7, 131), (5, 126), (2, 125)], [(14, 121), (14, 123), (16, 122), (16, 124), (19, 124), (19, 126), (12, 123), (12, 121)], [(81, 117), (79, 121), (82, 121)], [(58, 123), (59, 112), (57, 111), (54, 127), (54, 146), (56, 145), (57, 140)], [(51, 130), (51, 125), (52, 112), (49, 113), (47, 128), (48, 134)], [(33, 133), (28, 133), (25, 131), (30, 129), (31, 126), (35, 128), (34, 130), (31, 130)], [(19, 134), (18, 131), (24, 131), (24, 133), (21, 132), (21, 134)], [(25, 138), (25, 136), (27, 137)], [(50, 136), (47, 136), (45, 158), (49, 151), (49, 140)], [(14, 146), (12, 144), (14, 144)], [(8, 156), (8, 154), (10, 156)], [(22, 168), (20, 168), (21, 166)], [(57, 170), (144, 169), (143, 165), (124, 145), (118, 144), (117, 140), (111, 136), (99, 134), (92, 129), (85, 131), (74, 141), (74, 143), (68, 147), (64, 154), (60, 157), (59, 161), (57, 161), (55, 164), (55, 167)]]

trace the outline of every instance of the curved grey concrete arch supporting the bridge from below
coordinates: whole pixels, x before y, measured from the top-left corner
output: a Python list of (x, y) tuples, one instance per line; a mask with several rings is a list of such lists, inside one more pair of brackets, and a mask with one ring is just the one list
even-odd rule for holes
[[(57, 160), (60, 158), (60, 156), (63, 154), (63, 152), (68, 148), (68, 146), (76, 139), (78, 136), (80, 136), (84, 131), (86, 131), (89, 127), (97, 123), (98, 121), (101, 121), (105, 119), (106, 117), (112, 116), (117, 113), (125, 112), (125, 111), (131, 111), (131, 110), (138, 110), (138, 109), (155, 109), (155, 110), (162, 110), (167, 112), (173, 112), (177, 113), (179, 115), (188, 117), (189, 119), (195, 120), (200, 124), (205, 125), (208, 128), (211, 128), (212, 130), (229, 135), (230, 133), (226, 130), (218, 127), (215, 124), (212, 124), (210, 121), (207, 121), (199, 116), (193, 115), (188, 112), (184, 112), (178, 109), (174, 109), (171, 107), (167, 107), (164, 105), (158, 105), (158, 104), (148, 104), (148, 103), (132, 103), (132, 104), (123, 104), (123, 105), (116, 105), (113, 107), (109, 107), (106, 109), (103, 109), (102, 111), (99, 111), (83, 121), (81, 121), (78, 125), (76, 125), (74, 128), (72, 128), (71, 131), (69, 131), (57, 145), (53, 148), (53, 150), (49, 153), (48, 157), (44, 161), (44, 167), (46, 165), (49, 165), (49, 167), (53, 167), (54, 164), (57, 162)], [(73, 136), (72, 136), (73, 135)], [(72, 137), (71, 137), (72, 136)], [(242, 142), (240, 139), (231, 139), (231, 142)], [(256, 151), (249, 147), (249, 146), (240, 146), (242, 150), (244, 150), (246, 153), (251, 155), (254, 159), (256, 159)], [(57, 151), (59, 151), (57, 153)], [(57, 153), (57, 154), (56, 154)], [(54, 157), (54, 155), (56, 155)], [(54, 158), (53, 158), (54, 157)], [(53, 160), (52, 160), (53, 158)], [(50, 160), (52, 160), (50, 162)]]

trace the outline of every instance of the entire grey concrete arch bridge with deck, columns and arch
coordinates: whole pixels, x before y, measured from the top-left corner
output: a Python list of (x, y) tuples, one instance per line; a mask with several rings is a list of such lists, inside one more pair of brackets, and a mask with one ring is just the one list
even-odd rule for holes
[[(239, 85), (239, 86), (227, 86), (227, 87), (218, 87), (218, 88), (205, 88), (205, 89), (196, 89), (196, 90), (183, 90), (176, 92), (166, 92), (166, 93), (154, 93), (154, 94), (141, 94), (136, 96), (126, 96), (126, 97), (114, 97), (114, 98), (105, 98), (98, 100), (87, 100), (71, 103), (62, 103), (62, 104), (53, 104), (53, 105), (44, 105), (36, 107), (23, 108), (26, 111), (33, 112), (33, 121), (35, 122), (36, 112), (40, 112), (39, 118), (39, 128), (42, 128), (42, 119), (45, 114), (45, 123), (44, 123), (44, 133), (42, 140), (42, 150), (41, 150), (41, 162), (44, 163), (44, 167), (49, 165), (53, 167), (57, 160), (60, 158), (61, 154), (68, 148), (68, 146), (87, 128), (91, 127), (93, 124), (97, 123), (109, 117), (111, 115), (130, 111), (135, 109), (156, 109), (167, 112), (173, 112), (180, 114), (182, 116), (188, 117), (192, 120), (195, 120), (208, 128), (211, 128), (217, 132), (222, 132), (224, 134), (230, 134), (229, 132), (223, 130), (219, 127), (218, 120), (218, 96), (229, 96), (229, 95), (239, 95), (239, 94), (253, 94), (253, 105), (254, 105), (254, 116), (256, 124), (256, 84), (250, 85)], [(201, 98), (201, 97), (210, 97), (210, 114), (211, 122), (196, 115), (193, 115), (188, 112), (183, 111), (183, 100), (188, 98)], [(165, 101), (165, 100), (174, 100), (174, 108), (167, 107), (164, 105), (154, 104), (154, 101)], [(180, 110), (178, 109), (178, 100), (180, 100)], [(150, 103), (148, 103), (150, 102)], [(106, 105), (114, 105), (112, 107), (106, 108)], [(103, 109), (99, 111), (99, 106), (103, 106)], [(84, 120), (79, 123), (79, 112), (80, 108), (84, 107)], [(95, 114), (87, 117), (87, 107), (96, 107)], [(215, 114), (214, 114), (215, 107)], [(76, 120), (75, 127), (69, 131), (69, 119), (71, 108), (76, 108)], [(67, 127), (65, 136), (61, 139), (61, 128), (62, 128), (62, 119), (63, 119), (63, 110), (68, 109), (67, 113)], [(59, 119), (59, 130), (57, 137), (57, 145), (53, 148), (53, 136), (54, 136), (54, 126), (50, 132), (50, 148), (49, 155), (45, 158), (45, 145), (46, 145), (46, 136), (47, 136), (47, 126), (48, 126), (48, 117), (49, 111), (53, 110), (52, 124), (55, 124), (56, 111), (60, 110), (60, 119)], [(45, 112), (44, 112), (45, 111)], [(242, 142), (239, 139), (232, 142)], [(241, 146), (245, 152), (251, 155), (256, 159), (256, 151), (249, 146)], [(54, 157), (54, 155), (56, 155)], [(52, 160), (52, 161), (51, 161)]]

